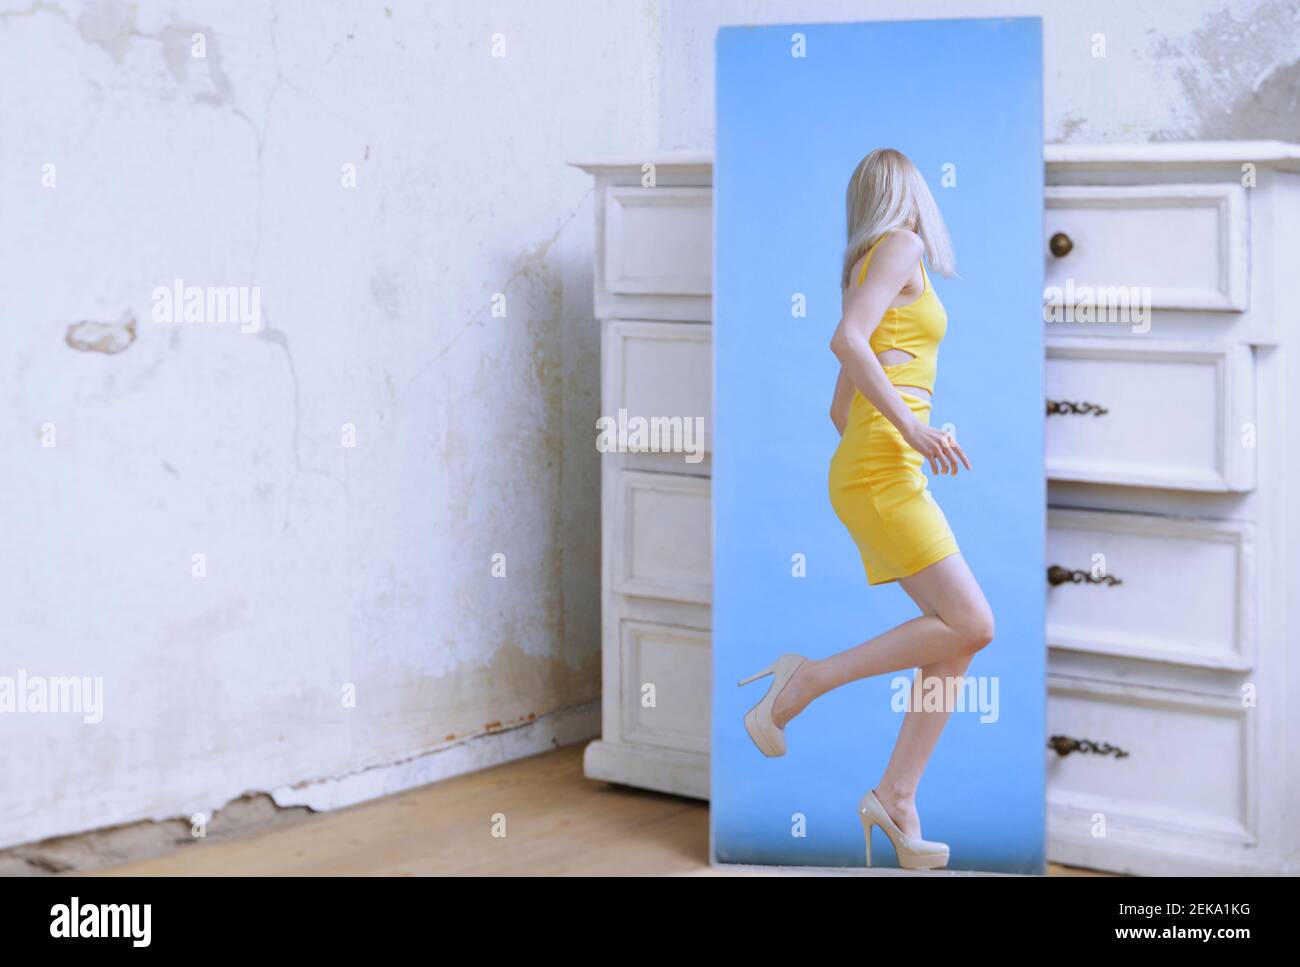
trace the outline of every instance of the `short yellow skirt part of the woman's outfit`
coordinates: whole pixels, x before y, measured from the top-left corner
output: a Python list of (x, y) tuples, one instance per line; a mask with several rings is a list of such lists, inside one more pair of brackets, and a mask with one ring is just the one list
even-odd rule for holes
[[(931, 404), (901, 394), (924, 424)], [(910, 577), (957, 554), (948, 519), (922, 473), (924, 458), (861, 393), (854, 391), (849, 421), (831, 458), (831, 506), (853, 535), (867, 584)]]

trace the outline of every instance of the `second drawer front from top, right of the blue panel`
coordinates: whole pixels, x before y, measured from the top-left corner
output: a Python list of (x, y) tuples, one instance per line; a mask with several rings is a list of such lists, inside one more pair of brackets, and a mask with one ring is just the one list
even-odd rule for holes
[(1045, 385), (1049, 480), (1254, 487), (1248, 346), (1052, 339)]

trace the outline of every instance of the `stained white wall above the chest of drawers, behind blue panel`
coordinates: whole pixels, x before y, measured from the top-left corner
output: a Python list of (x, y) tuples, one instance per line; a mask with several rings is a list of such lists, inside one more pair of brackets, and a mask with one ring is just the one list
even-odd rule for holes
[[(712, 99), (699, 92), (712, 90), (720, 25), (959, 17), (1043, 18), (1049, 142), (1300, 142), (1296, 0), (673, 0), (662, 23), (663, 147), (712, 144)], [(863, 61), (863, 99), (892, 83), (904, 82)]]

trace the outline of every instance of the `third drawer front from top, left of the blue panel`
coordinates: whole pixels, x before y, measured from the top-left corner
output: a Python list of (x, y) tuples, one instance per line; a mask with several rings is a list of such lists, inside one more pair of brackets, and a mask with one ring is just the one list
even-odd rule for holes
[[(614, 525), (619, 594), (707, 604), (712, 598), (712, 507), (707, 477), (621, 471)], [(618, 548), (616, 548), (618, 552)]]

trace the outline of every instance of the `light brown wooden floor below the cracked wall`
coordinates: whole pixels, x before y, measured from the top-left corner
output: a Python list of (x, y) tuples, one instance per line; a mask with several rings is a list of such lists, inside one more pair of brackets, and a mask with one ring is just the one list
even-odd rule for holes
[[(500, 814), (506, 836), (493, 837)], [(582, 746), (101, 875), (719, 875), (708, 806), (582, 776)], [(1053, 867), (1054, 875), (1083, 873)]]

